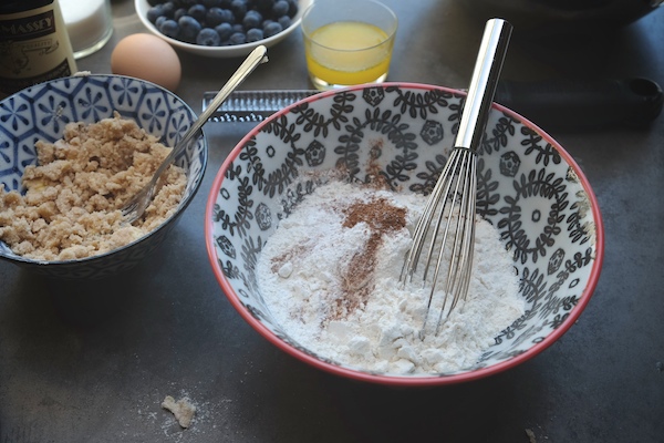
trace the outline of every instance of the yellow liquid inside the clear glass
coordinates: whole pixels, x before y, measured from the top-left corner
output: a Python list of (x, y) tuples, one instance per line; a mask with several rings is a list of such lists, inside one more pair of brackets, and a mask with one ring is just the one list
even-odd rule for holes
[(393, 39), (373, 24), (334, 22), (311, 34), (305, 48), (307, 64), (312, 76), (332, 85), (384, 80), (390, 69), (392, 44)]

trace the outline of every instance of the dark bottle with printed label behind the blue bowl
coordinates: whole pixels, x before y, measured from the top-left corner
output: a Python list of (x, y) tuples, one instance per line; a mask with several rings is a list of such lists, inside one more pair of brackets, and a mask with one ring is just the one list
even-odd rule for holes
[(75, 72), (58, 0), (0, 2), (0, 96)]

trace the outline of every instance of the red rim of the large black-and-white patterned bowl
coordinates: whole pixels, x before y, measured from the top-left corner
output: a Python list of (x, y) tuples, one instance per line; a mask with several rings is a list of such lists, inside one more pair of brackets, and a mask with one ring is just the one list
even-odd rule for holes
[[(381, 84), (381, 86), (390, 86), (390, 85), (398, 86), (398, 87), (406, 87), (406, 89), (422, 89), (422, 90), (436, 89), (436, 90), (440, 90), (440, 91), (445, 91), (445, 92), (449, 92), (449, 93), (454, 93), (454, 94), (465, 94), (464, 92), (448, 89), (448, 87), (434, 86), (434, 85), (427, 85), (427, 84), (418, 84), (418, 83), (397, 82), (397, 83)], [(366, 87), (366, 85), (352, 86), (352, 87), (349, 87), (347, 91), (362, 90), (365, 87)], [(600, 278), (600, 272), (602, 269), (602, 262), (603, 262), (603, 256), (604, 256), (604, 229), (603, 229), (603, 224), (602, 224), (602, 218), (601, 218), (601, 214), (600, 214), (600, 209), (599, 209), (598, 199), (596, 199), (594, 193), (592, 192), (592, 188), (590, 187), (588, 178), (585, 177), (585, 175), (583, 174), (583, 172), (581, 171), (581, 168), (579, 167), (577, 162), (556, 140), (553, 140), (550, 135), (548, 135), (544, 131), (542, 131), (535, 123), (530, 122), (528, 119), (525, 119), (523, 116), (519, 115), (518, 113), (516, 113), (500, 104), (496, 104), (496, 103), (494, 104), (495, 109), (499, 110), (500, 112), (504, 112), (505, 114), (508, 114), (508, 115), (515, 117), (516, 120), (520, 121), (523, 125), (536, 131), (539, 135), (542, 136), (543, 140), (546, 140), (547, 143), (549, 143), (552, 147), (554, 147), (559, 152), (560, 156), (562, 158), (564, 158), (564, 161), (574, 171), (574, 173), (577, 174), (577, 177), (579, 179), (579, 183), (581, 184), (581, 186), (588, 194), (588, 199), (589, 199), (590, 207), (591, 207), (593, 218), (595, 222), (595, 244), (594, 244), (595, 257), (594, 257), (594, 260), (592, 264), (592, 269), (590, 271), (590, 276), (588, 278), (588, 284), (587, 284), (581, 297), (579, 298), (577, 306), (570, 311), (569, 316), (563, 320), (563, 322), (558, 328), (556, 328), (551, 333), (549, 333), (542, 341), (536, 343), (535, 346), (532, 346), (532, 348), (528, 349), (523, 353), (512, 357), (509, 360), (492, 364), (487, 368), (481, 368), (481, 369), (463, 372), (463, 373), (455, 373), (455, 374), (449, 374), (449, 375), (372, 374), (372, 373), (362, 372), (359, 370), (352, 370), (352, 369), (334, 365), (334, 364), (318, 360), (317, 358), (314, 358), (299, 349), (293, 348), (291, 344), (284, 342), (283, 340), (281, 340), (280, 338), (274, 336), (274, 333), (272, 333), (272, 331), (270, 331), (266, 326), (263, 326), (258, 319), (256, 319), (245, 308), (245, 306), (240, 301), (238, 295), (235, 292), (232, 286), (227, 280), (226, 276), (224, 275), (224, 271), (218, 266), (219, 261), (218, 261), (218, 256), (216, 253), (215, 243), (214, 243), (214, 238), (212, 238), (214, 207), (215, 207), (215, 203), (217, 200), (219, 190), (221, 188), (221, 184), (224, 182), (226, 172), (227, 172), (228, 167), (231, 165), (231, 163), (238, 157), (238, 155), (240, 154), (242, 147), (247, 144), (247, 142), (252, 136), (255, 136), (257, 133), (259, 133), (262, 130), (262, 127), (266, 124), (268, 124), (271, 120), (278, 119), (281, 114), (288, 113), (292, 107), (295, 107), (301, 103), (315, 102), (325, 96), (334, 95), (336, 93), (339, 93), (339, 91), (328, 91), (328, 92), (322, 92), (322, 93), (312, 95), (310, 97), (303, 99), (302, 101), (281, 110), (280, 112), (273, 114), (269, 119), (261, 122), (259, 125), (257, 125), (255, 128), (252, 128), (251, 132), (249, 132), (236, 145), (236, 147), (234, 147), (234, 150), (231, 151), (229, 156), (225, 159), (224, 164), (221, 165), (221, 167), (219, 168), (219, 172), (217, 173), (217, 175), (215, 177), (215, 181), (214, 181), (211, 189), (210, 189), (210, 194), (208, 196), (208, 200), (206, 204), (206, 212), (205, 212), (205, 237), (206, 237), (206, 247), (207, 247), (207, 253), (208, 253), (208, 259), (210, 261), (210, 265), (212, 267), (212, 270), (215, 272), (215, 277), (217, 278), (217, 281), (221, 286), (221, 289), (224, 290), (224, 292), (225, 292), (226, 297), (228, 298), (228, 300), (230, 301), (230, 303), (240, 313), (240, 316), (268, 341), (270, 341), (271, 343), (277, 346), (279, 349), (283, 350), (284, 352), (295, 357), (297, 359), (299, 359), (303, 362), (307, 362), (307, 363), (309, 363), (315, 368), (319, 368), (323, 371), (326, 371), (329, 373), (333, 373), (333, 374), (341, 375), (341, 377), (346, 377), (352, 380), (366, 381), (366, 382), (372, 382), (372, 383), (377, 383), (377, 384), (395, 385), (395, 387), (434, 387), (434, 385), (455, 384), (455, 383), (477, 380), (477, 379), (481, 379), (481, 378), (485, 378), (485, 377), (488, 377), (491, 374), (496, 374), (496, 373), (502, 372), (505, 370), (508, 370), (510, 368), (513, 368), (513, 367), (531, 359), (532, 357), (539, 354), (544, 349), (547, 349), (549, 346), (551, 346), (556, 340), (558, 340), (564, 332), (567, 332), (570, 329), (570, 327), (578, 320), (579, 316), (581, 315), (581, 312), (584, 310), (585, 306), (588, 305), (588, 302), (596, 287), (596, 284)]]

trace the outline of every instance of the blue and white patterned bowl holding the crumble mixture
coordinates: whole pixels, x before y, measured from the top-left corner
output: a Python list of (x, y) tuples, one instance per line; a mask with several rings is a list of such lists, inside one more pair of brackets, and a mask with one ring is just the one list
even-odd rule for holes
[[(134, 119), (138, 126), (173, 146), (196, 120), (178, 96), (153, 83), (121, 75), (81, 75), (53, 80), (20, 91), (0, 102), (0, 183), (21, 188), (25, 166), (37, 163), (38, 140), (62, 138), (70, 122), (93, 123), (113, 116)], [(187, 173), (187, 187), (178, 210), (148, 235), (94, 257), (39, 261), (18, 256), (0, 241), (0, 258), (43, 276), (59, 279), (97, 279), (127, 270), (162, 244), (194, 198), (203, 181), (208, 147), (201, 134), (175, 161)]]

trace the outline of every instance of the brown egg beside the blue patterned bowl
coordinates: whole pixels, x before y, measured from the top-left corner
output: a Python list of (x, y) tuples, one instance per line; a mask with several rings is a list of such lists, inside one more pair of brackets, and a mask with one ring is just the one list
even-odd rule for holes
[(117, 42), (111, 54), (111, 71), (135, 76), (175, 91), (181, 78), (179, 58), (170, 44), (156, 35), (138, 33)]

